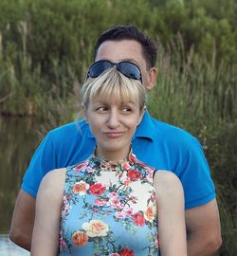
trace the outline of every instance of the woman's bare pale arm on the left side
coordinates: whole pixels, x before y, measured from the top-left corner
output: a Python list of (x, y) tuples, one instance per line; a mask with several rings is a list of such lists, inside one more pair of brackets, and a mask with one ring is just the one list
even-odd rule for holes
[(46, 174), (36, 197), (35, 222), (30, 255), (58, 254), (61, 205), (64, 194), (65, 170)]

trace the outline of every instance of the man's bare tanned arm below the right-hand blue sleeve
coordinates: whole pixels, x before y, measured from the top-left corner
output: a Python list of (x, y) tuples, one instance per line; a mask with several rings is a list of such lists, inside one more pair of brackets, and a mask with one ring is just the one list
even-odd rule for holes
[(216, 200), (186, 210), (185, 220), (189, 256), (213, 255), (222, 244), (219, 211)]

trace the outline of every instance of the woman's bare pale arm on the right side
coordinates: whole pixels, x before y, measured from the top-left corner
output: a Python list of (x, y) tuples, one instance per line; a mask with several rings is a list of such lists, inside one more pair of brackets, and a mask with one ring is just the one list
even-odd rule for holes
[(162, 256), (187, 256), (184, 193), (178, 177), (158, 171), (154, 178)]

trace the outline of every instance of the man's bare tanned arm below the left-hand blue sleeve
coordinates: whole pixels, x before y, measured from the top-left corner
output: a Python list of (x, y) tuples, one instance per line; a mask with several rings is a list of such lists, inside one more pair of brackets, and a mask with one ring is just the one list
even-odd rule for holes
[(9, 239), (27, 250), (30, 250), (34, 216), (35, 197), (20, 190), (13, 211)]

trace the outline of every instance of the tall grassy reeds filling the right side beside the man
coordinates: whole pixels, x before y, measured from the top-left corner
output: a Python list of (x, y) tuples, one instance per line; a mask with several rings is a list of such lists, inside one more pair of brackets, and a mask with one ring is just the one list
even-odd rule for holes
[(157, 119), (182, 127), (201, 141), (210, 164), (220, 208), (223, 246), (216, 255), (237, 253), (237, 83), (236, 66), (216, 64), (183, 50), (178, 35), (159, 46), (159, 76), (149, 109)]

